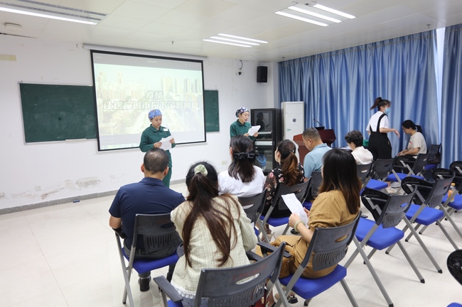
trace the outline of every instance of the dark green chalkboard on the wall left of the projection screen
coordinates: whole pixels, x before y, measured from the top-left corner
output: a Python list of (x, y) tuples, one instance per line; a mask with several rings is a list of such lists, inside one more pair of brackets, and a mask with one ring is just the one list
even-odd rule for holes
[(26, 143), (96, 138), (93, 86), (20, 83)]

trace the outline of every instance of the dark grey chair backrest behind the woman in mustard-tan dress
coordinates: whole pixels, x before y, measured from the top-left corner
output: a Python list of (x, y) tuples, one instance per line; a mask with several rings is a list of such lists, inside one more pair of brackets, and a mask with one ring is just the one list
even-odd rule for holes
[(361, 212), (347, 225), (329, 228), (315, 228), (313, 238), (300, 267), (306, 267), (313, 257), (313, 271), (326, 269), (338, 264), (346, 255), (348, 245), (356, 231)]

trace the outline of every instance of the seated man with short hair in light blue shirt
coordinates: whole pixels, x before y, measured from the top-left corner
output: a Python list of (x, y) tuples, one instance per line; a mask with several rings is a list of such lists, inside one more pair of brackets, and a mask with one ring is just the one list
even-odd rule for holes
[(323, 166), (323, 156), (326, 152), (331, 150), (327, 144), (323, 143), (318, 130), (315, 128), (307, 128), (303, 131), (303, 143), (310, 152), (306, 154), (303, 160), (303, 169), (305, 177), (311, 177), (312, 172), (318, 172)]

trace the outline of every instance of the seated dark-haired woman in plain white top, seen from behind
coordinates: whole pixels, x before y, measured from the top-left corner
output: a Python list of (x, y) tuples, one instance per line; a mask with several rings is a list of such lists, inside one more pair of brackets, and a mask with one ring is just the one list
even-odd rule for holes
[(262, 193), (264, 174), (261, 168), (253, 165), (257, 154), (253, 151), (252, 140), (244, 135), (232, 137), (230, 155), (230, 167), (218, 175), (220, 194), (247, 197)]

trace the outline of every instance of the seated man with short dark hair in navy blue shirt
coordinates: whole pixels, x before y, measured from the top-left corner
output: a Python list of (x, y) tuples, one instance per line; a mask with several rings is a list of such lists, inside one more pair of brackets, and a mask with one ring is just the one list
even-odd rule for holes
[[(181, 193), (168, 189), (163, 185), (162, 179), (168, 173), (168, 154), (160, 148), (152, 148), (144, 155), (144, 162), (141, 164), (141, 172), (144, 178), (141, 182), (127, 184), (117, 191), (114, 201), (112, 201), (109, 213), (109, 226), (112, 228), (122, 227), (124, 232), (124, 249), (130, 255), (131, 242), (135, 224), (135, 215), (142, 214), (161, 214), (171, 213), (180, 203), (185, 201)], [(136, 242), (136, 258), (161, 259), (172, 255), (176, 248), (172, 250), (161, 250), (149, 254), (144, 250), (142, 240)], [(175, 264), (168, 269), (167, 279), (171, 280)], [(151, 272), (139, 274), (140, 291), (149, 290)]]

